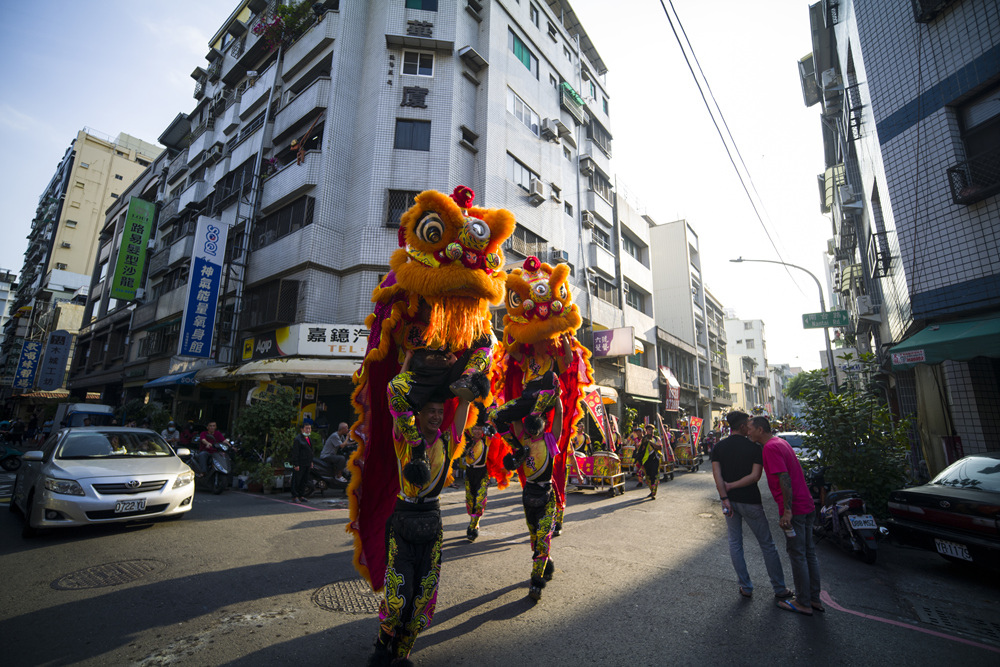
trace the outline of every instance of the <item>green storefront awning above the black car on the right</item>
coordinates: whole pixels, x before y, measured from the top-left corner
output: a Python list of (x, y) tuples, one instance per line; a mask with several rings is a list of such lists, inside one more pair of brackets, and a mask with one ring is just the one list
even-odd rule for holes
[(1000, 359), (1000, 315), (928, 324), (890, 352), (893, 368), (976, 357)]

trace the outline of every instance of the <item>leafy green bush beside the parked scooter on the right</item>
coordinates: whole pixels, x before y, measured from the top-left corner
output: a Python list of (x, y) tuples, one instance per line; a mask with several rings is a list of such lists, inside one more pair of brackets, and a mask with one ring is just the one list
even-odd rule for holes
[(845, 354), (840, 359), (853, 370), (839, 394), (813, 381), (825, 372), (801, 374), (812, 376), (803, 382), (800, 399), (806, 405), (804, 417), (810, 425), (804, 444), (823, 452), (829, 481), (838, 488), (858, 491), (872, 513), (884, 517), (889, 492), (907, 481), (909, 422), (894, 421), (885, 405), (873, 381), (878, 367), (874, 355), (862, 353), (855, 358)]

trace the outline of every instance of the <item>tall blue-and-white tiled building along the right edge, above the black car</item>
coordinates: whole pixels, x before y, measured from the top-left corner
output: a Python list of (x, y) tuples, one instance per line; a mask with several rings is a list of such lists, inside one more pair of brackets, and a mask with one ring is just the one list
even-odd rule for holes
[(878, 356), (931, 471), (1000, 445), (1000, 9), (816, 3), (803, 98), (848, 343)]

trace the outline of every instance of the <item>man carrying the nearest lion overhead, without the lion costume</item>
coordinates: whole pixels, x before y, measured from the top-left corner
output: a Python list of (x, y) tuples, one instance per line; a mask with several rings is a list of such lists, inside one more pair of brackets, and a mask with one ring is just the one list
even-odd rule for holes
[(442, 433), (441, 393), (431, 395), (416, 413), (415, 440), (404, 439), (399, 431), (393, 434), (399, 496), (386, 525), (385, 597), (369, 665), (408, 663), (417, 635), (434, 616), (444, 538), (438, 496), (469, 416), (469, 402), (460, 398), (451, 427)]

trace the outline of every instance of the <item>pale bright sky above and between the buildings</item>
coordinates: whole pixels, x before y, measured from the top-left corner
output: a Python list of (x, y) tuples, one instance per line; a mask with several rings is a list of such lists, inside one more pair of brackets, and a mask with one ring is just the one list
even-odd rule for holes
[[(819, 311), (812, 279), (778, 265), (729, 261), (790, 262), (826, 284), (832, 232), (816, 187), (824, 169), (819, 110), (803, 104), (796, 68), (811, 50), (809, 2), (672, 1), (759, 193), (777, 251), (659, 0), (619, 0), (614, 11), (606, 1), (571, 0), (608, 67), (618, 183), (657, 222), (689, 221), (700, 239), (705, 285), (737, 317), (764, 321), (769, 363), (818, 368), (822, 330), (802, 328), (802, 314)], [(235, 6), (235, 0), (92, 0), (85, 9), (69, 0), (6, 4), (0, 267), (20, 271), (38, 197), (79, 130), (155, 142), (178, 112), (194, 108), (190, 72), (205, 66), (208, 41)]]

